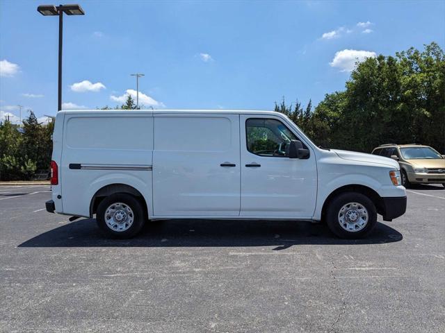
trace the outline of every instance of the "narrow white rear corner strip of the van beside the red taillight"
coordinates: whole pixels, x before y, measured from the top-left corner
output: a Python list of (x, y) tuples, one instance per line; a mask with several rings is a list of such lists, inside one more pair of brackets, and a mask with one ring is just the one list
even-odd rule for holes
[(54, 123), (53, 132), (53, 153), (51, 155), (51, 160), (56, 162), (58, 165), (58, 185), (51, 185), (51, 196), (54, 201), (54, 206), (56, 207), (56, 212), (63, 212), (62, 199), (58, 196), (62, 195), (62, 178), (60, 176), (60, 164), (62, 161), (62, 151), (63, 151), (63, 119), (65, 114), (63, 112), (58, 112), (56, 115), (56, 122)]

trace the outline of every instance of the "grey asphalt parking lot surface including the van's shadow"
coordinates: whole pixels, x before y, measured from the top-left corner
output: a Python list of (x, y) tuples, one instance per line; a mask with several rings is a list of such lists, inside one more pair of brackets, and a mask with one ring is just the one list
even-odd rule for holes
[[(1, 332), (444, 332), (445, 189), (369, 239), (323, 224), (159, 221), (135, 239), (0, 187)], [(379, 221), (382, 221), (379, 216)]]

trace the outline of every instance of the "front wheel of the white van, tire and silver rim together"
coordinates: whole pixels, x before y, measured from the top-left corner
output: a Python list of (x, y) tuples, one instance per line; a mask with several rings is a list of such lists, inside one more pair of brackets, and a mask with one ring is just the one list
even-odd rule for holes
[(377, 210), (367, 196), (346, 192), (335, 197), (327, 207), (326, 222), (340, 238), (366, 237), (377, 223)]

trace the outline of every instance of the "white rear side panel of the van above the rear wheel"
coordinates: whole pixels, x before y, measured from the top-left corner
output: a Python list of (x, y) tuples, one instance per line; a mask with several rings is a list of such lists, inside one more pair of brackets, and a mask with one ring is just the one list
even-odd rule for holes
[(90, 215), (92, 196), (106, 185), (125, 184), (152, 211), (152, 114), (65, 114), (63, 213)]

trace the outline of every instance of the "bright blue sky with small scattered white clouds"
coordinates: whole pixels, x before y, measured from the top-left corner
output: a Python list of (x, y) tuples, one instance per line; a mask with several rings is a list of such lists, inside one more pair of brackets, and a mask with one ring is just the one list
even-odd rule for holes
[[(58, 19), (42, 3), (0, 0), (0, 116), (56, 113)], [(445, 1), (79, 3), (85, 16), (64, 17), (65, 108), (121, 104), (137, 71), (154, 108), (316, 105), (356, 58), (445, 45)]]

